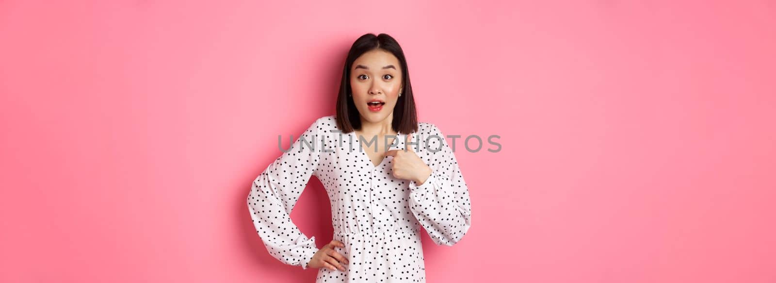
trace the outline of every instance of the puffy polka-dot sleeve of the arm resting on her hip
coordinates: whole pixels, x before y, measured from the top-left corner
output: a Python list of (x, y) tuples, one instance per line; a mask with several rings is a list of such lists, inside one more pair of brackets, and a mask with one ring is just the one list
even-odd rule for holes
[(269, 164), (251, 185), (248, 210), (258, 236), (272, 257), (307, 269), (318, 248), (289, 216), (320, 162), (320, 118), (296, 138), (288, 152)]

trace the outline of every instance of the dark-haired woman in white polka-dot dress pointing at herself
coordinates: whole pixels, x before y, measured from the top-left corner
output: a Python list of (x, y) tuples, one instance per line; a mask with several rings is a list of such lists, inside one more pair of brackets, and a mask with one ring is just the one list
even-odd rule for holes
[[(420, 226), (448, 246), (469, 230), (456, 156), (434, 124), (417, 122), (407, 69), (393, 37), (359, 37), (345, 60), (337, 115), (318, 118), (252, 184), (248, 209), (267, 250), (285, 264), (319, 268), (317, 282), (423, 282)], [(334, 240), (320, 249), (289, 218), (310, 176), (331, 201)]]

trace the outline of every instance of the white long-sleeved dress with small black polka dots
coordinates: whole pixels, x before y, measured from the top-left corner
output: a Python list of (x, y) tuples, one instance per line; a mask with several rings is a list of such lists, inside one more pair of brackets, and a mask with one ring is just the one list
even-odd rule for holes
[[(433, 173), (416, 186), (391, 175), (393, 156), (374, 166), (354, 132), (338, 133), (336, 119), (318, 118), (253, 181), (248, 209), (258, 236), (273, 257), (307, 269), (318, 250), (315, 237), (300, 232), (289, 214), (317, 176), (331, 201), (334, 239), (345, 243), (335, 250), (350, 264), (345, 271), (319, 268), (316, 282), (424, 282), (421, 225), (447, 246), (471, 225), (469, 190), (452, 148), (434, 124), (418, 123), (411, 146)], [(391, 149), (404, 149), (405, 139), (400, 133)]]

